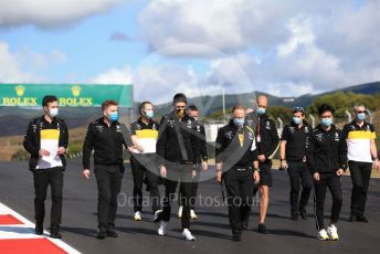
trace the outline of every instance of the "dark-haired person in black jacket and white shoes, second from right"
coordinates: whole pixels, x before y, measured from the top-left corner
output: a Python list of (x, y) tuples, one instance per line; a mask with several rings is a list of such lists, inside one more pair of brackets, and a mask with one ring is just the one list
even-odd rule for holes
[[(306, 147), (307, 163), (313, 172), (318, 239), (339, 240), (337, 222), (342, 203), (340, 177), (347, 169), (347, 145), (342, 131), (332, 124), (334, 107), (318, 107), (320, 124), (313, 130)], [(330, 223), (325, 229), (324, 212), (327, 188), (332, 195)]]

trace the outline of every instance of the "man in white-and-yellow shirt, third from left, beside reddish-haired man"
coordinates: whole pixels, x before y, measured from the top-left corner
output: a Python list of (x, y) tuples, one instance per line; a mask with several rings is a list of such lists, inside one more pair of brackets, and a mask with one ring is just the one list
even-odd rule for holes
[(157, 222), (161, 213), (160, 194), (158, 191), (159, 171), (156, 160), (159, 124), (152, 119), (155, 114), (150, 102), (141, 103), (139, 113), (141, 116), (130, 125), (131, 140), (137, 148), (130, 158), (130, 167), (134, 174), (135, 221), (141, 221), (142, 182), (144, 178), (146, 178), (150, 192), (154, 221)]

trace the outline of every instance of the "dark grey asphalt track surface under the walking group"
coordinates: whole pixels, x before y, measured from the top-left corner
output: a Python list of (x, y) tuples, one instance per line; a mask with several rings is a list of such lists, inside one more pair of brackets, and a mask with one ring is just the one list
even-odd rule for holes
[[(249, 230), (243, 233), (242, 242), (230, 240), (231, 230), (228, 209), (221, 205), (198, 208), (199, 220), (191, 224), (196, 242), (187, 242), (180, 236), (180, 221), (176, 218), (177, 203), (173, 204), (172, 219), (168, 235), (157, 235), (157, 223), (151, 222), (150, 209), (144, 212), (141, 222), (133, 219), (133, 207), (118, 209), (116, 229), (118, 239), (96, 239), (97, 191), (94, 174), (88, 181), (81, 177), (81, 161), (68, 160), (64, 178), (64, 203), (62, 233), (63, 241), (82, 253), (379, 253), (380, 232), (380, 180), (372, 179), (368, 197), (367, 215), (370, 223), (350, 223), (349, 199), (351, 182), (342, 178), (344, 208), (338, 223), (340, 241), (320, 242), (316, 240), (313, 218), (307, 221), (291, 221), (288, 205), (288, 178), (282, 171), (274, 171), (274, 187), (266, 220), (267, 234), (256, 232), (257, 207), (253, 209)], [(162, 187), (161, 187), (161, 193)], [(0, 202), (33, 220), (33, 182), (27, 162), (0, 162)], [(125, 197), (130, 197), (133, 178), (129, 165), (123, 180)], [(221, 188), (214, 181), (201, 182), (199, 194), (221, 200)], [(50, 197), (49, 197), (50, 199)], [(326, 224), (330, 210), (330, 194), (327, 194)], [(50, 201), (46, 201), (45, 229), (49, 225)], [(313, 199), (308, 207), (313, 216)]]

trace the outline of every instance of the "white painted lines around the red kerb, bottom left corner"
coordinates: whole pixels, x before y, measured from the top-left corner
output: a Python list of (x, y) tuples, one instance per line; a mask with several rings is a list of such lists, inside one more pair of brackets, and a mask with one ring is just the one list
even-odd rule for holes
[(8, 208), (3, 203), (0, 202), (0, 214), (11, 214), (21, 221), (23, 224), (19, 225), (0, 225), (0, 240), (6, 239), (48, 239), (62, 250), (71, 254), (80, 253), (65, 242), (59, 239), (51, 239), (49, 237), (49, 232), (44, 231), (43, 235), (34, 234), (35, 224), (19, 214), (18, 212), (13, 211), (12, 209)]

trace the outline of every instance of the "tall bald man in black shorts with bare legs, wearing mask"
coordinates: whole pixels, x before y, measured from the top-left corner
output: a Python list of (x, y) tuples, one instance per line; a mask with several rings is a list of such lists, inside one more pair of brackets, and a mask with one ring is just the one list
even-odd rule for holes
[[(270, 203), (270, 188), (272, 180), (272, 158), (278, 149), (279, 138), (276, 124), (266, 115), (267, 98), (257, 97), (256, 110), (247, 115), (246, 120), (256, 135), (257, 159), (260, 168), (260, 222), (258, 232), (266, 233), (265, 219)], [(254, 195), (257, 188), (254, 188)]]

